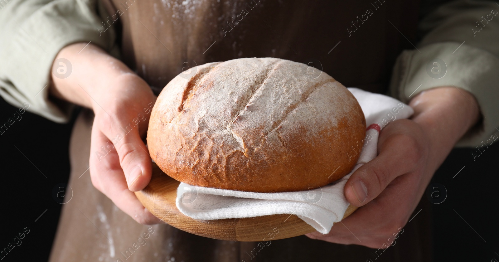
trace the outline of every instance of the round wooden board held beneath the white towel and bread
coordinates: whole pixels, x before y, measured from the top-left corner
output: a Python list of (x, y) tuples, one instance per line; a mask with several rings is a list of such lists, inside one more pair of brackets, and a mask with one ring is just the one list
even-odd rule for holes
[[(151, 182), (135, 192), (139, 201), (154, 216), (180, 230), (212, 239), (229, 241), (266, 241), (286, 239), (314, 232), (295, 215), (282, 214), (241, 219), (195, 220), (182, 214), (175, 205), (180, 182), (167, 176), (153, 163)], [(348, 206), (343, 219), (357, 207)]]

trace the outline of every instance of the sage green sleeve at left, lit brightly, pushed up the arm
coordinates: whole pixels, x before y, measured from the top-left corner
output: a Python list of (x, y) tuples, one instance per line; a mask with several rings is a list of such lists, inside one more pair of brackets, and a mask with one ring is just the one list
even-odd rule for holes
[(13, 106), (67, 121), (73, 105), (48, 95), (51, 66), (59, 50), (75, 42), (116, 52), (115, 32), (103, 32), (103, 6), (97, 0), (3, 0), (0, 8), (0, 95)]

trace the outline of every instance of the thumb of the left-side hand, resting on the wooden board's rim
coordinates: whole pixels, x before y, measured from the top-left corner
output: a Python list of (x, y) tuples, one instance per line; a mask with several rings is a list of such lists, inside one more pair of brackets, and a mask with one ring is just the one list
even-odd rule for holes
[(149, 151), (139, 135), (139, 126), (133, 122), (114, 120), (108, 128), (102, 128), (104, 135), (112, 140), (125, 174), (128, 189), (139, 191), (151, 180), (152, 166)]

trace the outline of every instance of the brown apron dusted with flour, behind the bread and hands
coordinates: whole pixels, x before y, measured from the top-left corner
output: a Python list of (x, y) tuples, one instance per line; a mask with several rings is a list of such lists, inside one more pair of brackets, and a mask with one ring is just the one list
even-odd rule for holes
[[(345, 86), (384, 93), (396, 56), (412, 47), (405, 37), (414, 39), (419, 9), (417, 1), (390, 0), (103, 3), (110, 14), (106, 25), (118, 32), (122, 60), (156, 94), (189, 67), (241, 57), (303, 62)], [(382, 255), (304, 236), (272, 241), (254, 255), (254, 248), (261, 247), (255, 242), (219, 241), (168, 225), (139, 225), (97, 191), (85, 171), (92, 119), (84, 111), (73, 129), (69, 186), (74, 194), (62, 209), (51, 262), (431, 261), (426, 199), (397, 245)], [(144, 233), (149, 236), (146, 243), (138, 240)]]

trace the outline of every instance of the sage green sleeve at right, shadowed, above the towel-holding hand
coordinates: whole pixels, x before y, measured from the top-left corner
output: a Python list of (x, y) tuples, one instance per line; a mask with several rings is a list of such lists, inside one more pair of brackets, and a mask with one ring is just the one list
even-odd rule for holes
[(421, 21), (425, 35), (417, 49), (402, 52), (394, 67), (390, 91), (403, 102), (439, 86), (456, 86), (475, 96), (483, 121), (457, 146), (476, 147), (499, 137), (498, 10), (494, 1), (439, 6)]

